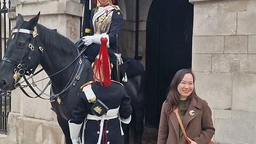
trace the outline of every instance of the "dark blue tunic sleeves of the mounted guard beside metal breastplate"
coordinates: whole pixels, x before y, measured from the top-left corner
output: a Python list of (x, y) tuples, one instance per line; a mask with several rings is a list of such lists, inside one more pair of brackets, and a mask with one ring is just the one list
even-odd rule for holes
[[(116, 10), (116, 9), (112, 11), (113, 11), (113, 15), (110, 23), (110, 28), (109, 28), (109, 31), (107, 32), (109, 36), (109, 49), (115, 53), (116, 51), (117, 53), (121, 53), (119, 47), (117, 47), (117, 38), (119, 38), (122, 27), (123, 27), (123, 13), (121, 12), (121, 10)], [(91, 13), (90, 35), (94, 35), (94, 28), (92, 23), (93, 15), (94, 15), (94, 11), (92, 11)]]

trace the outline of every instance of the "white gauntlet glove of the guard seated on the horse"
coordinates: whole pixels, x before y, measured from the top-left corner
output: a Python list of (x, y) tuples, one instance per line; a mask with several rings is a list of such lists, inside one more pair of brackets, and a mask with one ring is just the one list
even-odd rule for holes
[(92, 43), (94, 44), (101, 44), (100, 38), (106, 37), (108, 39), (107, 47), (109, 47), (109, 37), (107, 34), (100, 34), (100, 35), (93, 35), (93, 36), (84, 36), (82, 37), (82, 41), (84, 41), (84, 45), (88, 46)]

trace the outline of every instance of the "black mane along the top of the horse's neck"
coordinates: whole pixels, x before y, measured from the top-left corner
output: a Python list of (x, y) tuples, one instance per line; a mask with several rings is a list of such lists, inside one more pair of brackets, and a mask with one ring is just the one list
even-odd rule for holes
[(67, 53), (77, 53), (77, 46), (67, 37), (57, 33), (57, 31), (46, 28), (40, 24), (37, 24), (37, 31), (44, 43), (57, 47)]

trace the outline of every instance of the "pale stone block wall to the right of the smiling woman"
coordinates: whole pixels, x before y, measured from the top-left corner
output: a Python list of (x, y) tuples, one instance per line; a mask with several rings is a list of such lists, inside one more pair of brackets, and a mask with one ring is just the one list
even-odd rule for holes
[(197, 94), (212, 108), (213, 141), (255, 143), (256, 1), (190, 2), (192, 69)]

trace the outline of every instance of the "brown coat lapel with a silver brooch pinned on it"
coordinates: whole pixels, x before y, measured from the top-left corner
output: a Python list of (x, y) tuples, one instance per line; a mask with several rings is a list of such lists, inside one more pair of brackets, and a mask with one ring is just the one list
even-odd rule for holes
[[(198, 99), (194, 97), (191, 99), (191, 102), (188, 106), (188, 110), (184, 116), (183, 126), (185, 130), (187, 129), (189, 122), (192, 121), (192, 119), (194, 119), (198, 115), (198, 110), (197, 110), (198, 108), (199, 109), (202, 108), (202, 101), (198, 101)], [(194, 110), (194, 115), (192, 114), (193, 110)], [(189, 112), (191, 114), (189, 114)]]

